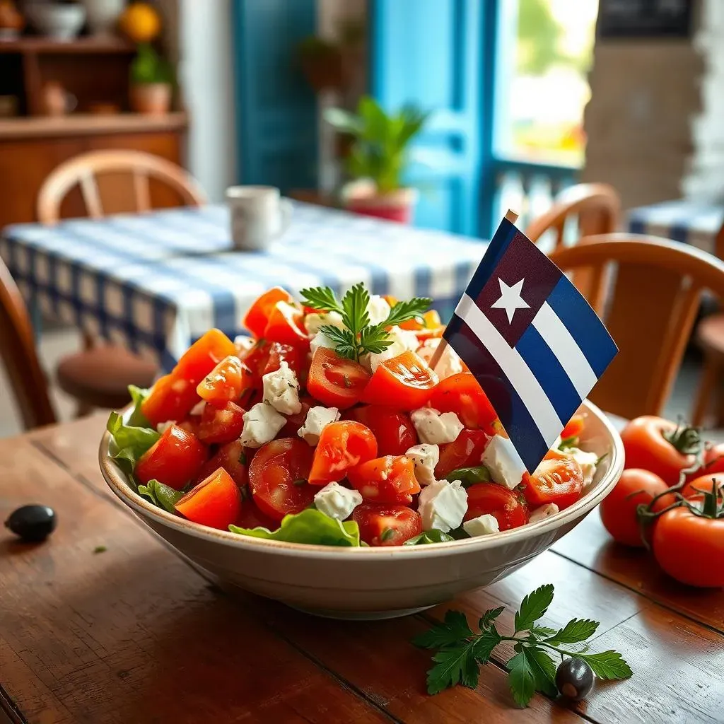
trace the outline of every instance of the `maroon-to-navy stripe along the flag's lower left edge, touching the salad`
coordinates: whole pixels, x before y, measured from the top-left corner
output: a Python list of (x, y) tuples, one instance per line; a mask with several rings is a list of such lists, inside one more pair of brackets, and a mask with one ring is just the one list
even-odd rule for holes
[(523, 463), (532, 473), (548, 452), (548, 445), (518, 392), (492, 354), (457, 314), (447, 325), (445, 339), (483, 388)]

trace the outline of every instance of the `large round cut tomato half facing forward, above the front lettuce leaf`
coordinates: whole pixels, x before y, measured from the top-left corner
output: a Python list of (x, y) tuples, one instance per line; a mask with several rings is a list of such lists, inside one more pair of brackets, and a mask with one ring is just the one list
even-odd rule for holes
[(249, 465), (249, 489), (262, 513), (275, 521), (312, 504), (317, 488), (308, 484), (312, 449), (298, 437), (281, 437), (256, 451)]

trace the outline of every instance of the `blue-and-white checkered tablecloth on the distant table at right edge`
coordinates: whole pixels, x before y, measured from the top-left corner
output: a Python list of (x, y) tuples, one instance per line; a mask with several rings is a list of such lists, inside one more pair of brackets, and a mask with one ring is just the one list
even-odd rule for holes
[(724, 222), (724, 204), (680, 199), (628, 211), (628, 230), (673, 239), (710, 253)]

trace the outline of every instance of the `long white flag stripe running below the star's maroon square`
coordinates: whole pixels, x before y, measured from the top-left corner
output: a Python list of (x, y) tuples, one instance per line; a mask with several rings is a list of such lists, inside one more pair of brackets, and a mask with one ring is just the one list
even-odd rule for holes
[(458, 302), (455, 314), (466, 322), (493, 355), (503, 374), (508, 377), (515, 392), (518, 392), (523, 400), (523, 405), (526, 405), (546, 445), (550, 447), (563, 429), (563, 423), (521, 353), (510, 347), (467, 294), (463, 294)]

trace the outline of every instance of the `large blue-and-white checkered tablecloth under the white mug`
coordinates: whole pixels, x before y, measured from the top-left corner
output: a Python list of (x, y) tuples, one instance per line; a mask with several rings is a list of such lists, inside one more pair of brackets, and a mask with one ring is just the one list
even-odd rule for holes
[(29, 305), (163, 369), (210, 327), (241, 332), (245, 311), (274, 285), (340, 293), (361, 281), (376, 294), (432, 297), (449, 312), (484, 249), (480, 240), (303, 203), (264, 253), (233, 251), (224, 206), (15, 224), (0, 237)]

